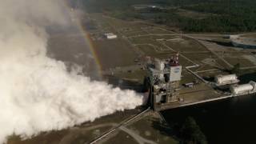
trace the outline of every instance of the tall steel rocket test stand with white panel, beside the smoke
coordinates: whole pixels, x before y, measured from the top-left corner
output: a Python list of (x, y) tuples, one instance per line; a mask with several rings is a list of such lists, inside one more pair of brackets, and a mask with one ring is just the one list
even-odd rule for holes
[(178, 88), (182, 78), (182, 66), (178, 54), (174, 58), (159, 60), (147, 66), (150, 76), (150, 103), (154, 109), (161, 104), (177, 101)]

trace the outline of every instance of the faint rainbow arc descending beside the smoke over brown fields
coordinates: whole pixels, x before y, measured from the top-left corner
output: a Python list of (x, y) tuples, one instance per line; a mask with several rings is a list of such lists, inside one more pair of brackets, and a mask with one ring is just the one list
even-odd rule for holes
[[(66, 0), (64, 0), (64, 6), (66, 7), (67, 13), (70, 14), (70, 6), (68, 2), (66, 2)], [(71, 17), (71, 14), (70, 14), (70, 17)], [(86, 29), (82, 26), (82, 22), (80, 18), (75, 18), (75, 21), (73, 22), (78, 27), (78, 30), (81, 32), (84, 42), (86, 44), (86, 47), (90, 49), (90, 53), (93, 55), (94, 62), (97, 66), (96, 68), (97, 68), (98, 76), (102, 78), (102, 64), (98, 57), (97, 51), (94, 49), (94, 43), (90, 39), (90, 34), (88, 34), (86, 32)]]

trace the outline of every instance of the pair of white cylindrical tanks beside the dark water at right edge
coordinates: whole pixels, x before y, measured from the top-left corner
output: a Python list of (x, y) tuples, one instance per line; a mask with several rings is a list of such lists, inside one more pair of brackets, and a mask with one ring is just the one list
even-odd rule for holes
[(236, 74), (218, 75), (215, 77), (216, 86), (230, 85), (230, 91), (234, 95), (253, 94), (256, 92), (256, 82), (238, 85), (239, 79)]

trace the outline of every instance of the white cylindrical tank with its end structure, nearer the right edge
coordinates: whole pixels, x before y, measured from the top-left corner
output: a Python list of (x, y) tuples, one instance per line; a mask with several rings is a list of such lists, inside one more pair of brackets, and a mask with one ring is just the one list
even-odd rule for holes
[(256, 82), (251, 81), (248, 84), (230, 86), (230, 91), (234, 95), (254, 93), (256, 92)]

